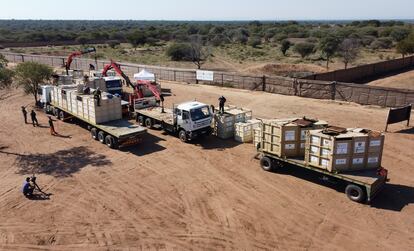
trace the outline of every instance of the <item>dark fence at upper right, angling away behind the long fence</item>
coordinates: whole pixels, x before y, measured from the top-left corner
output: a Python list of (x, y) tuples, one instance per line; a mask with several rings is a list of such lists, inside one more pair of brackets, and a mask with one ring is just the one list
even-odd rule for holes
[(346, 83), (366, 83), (367, 80), (378, 78), (386, 74), (414, 67), (414, 56), (383, 61), (375, 64), (366, 64), (349, 69), (318, 73), (303, 79), (338, 81)]

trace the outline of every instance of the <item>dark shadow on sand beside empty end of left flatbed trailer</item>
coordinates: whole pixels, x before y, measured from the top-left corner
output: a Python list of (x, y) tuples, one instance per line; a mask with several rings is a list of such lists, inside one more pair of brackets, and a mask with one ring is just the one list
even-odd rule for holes
[(135, 154), (136, 156), (144, 156), (166, 149), (165, 147), (159, 145), (159, 142), (165, 141), (165, 139), (162, 139), (150, 133), (145, 133), (141, 139), (142, 141), (139, 144), (135, 146), (124, 147), (121, 149), (121, 151), (129, 152)]

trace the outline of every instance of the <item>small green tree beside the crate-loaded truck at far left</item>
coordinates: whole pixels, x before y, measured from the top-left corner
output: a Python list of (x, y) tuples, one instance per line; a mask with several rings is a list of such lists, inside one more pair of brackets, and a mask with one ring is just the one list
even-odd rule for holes
[(32, 94), (37, 104), (39, 85), (51, 78), (53, 69), (37, 62), (24, 62), (17, 65), (15, 72), (17, 85), (22, 87), (27, 95)]

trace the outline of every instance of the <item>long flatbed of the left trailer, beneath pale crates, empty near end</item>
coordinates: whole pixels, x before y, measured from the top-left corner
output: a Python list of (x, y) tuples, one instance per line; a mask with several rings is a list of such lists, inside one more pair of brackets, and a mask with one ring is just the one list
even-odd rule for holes
[(102, 124), (92, 123), (60, 107), (55, 102), (52, 102), (47, 110), (63, 121), (73, 118), (82, 121), (87, 125), (94, 140), (99, 140), (112, 149), (137, 144), (141, 141), (141, 136), (147, 133), (145, 127), (131, 123), (127, 119), (118, 119)]

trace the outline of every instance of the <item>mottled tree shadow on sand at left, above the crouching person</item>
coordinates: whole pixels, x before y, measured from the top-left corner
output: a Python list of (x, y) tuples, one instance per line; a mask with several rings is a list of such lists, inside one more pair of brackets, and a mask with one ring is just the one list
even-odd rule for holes
[(88, 165), (112, 164), (105, 155), (97, 154), (83, 146), (48, 154), (14, 155), (17, 156), (18, 173), (24, 175), (47, 174), (54, 177), (69, 177)]

